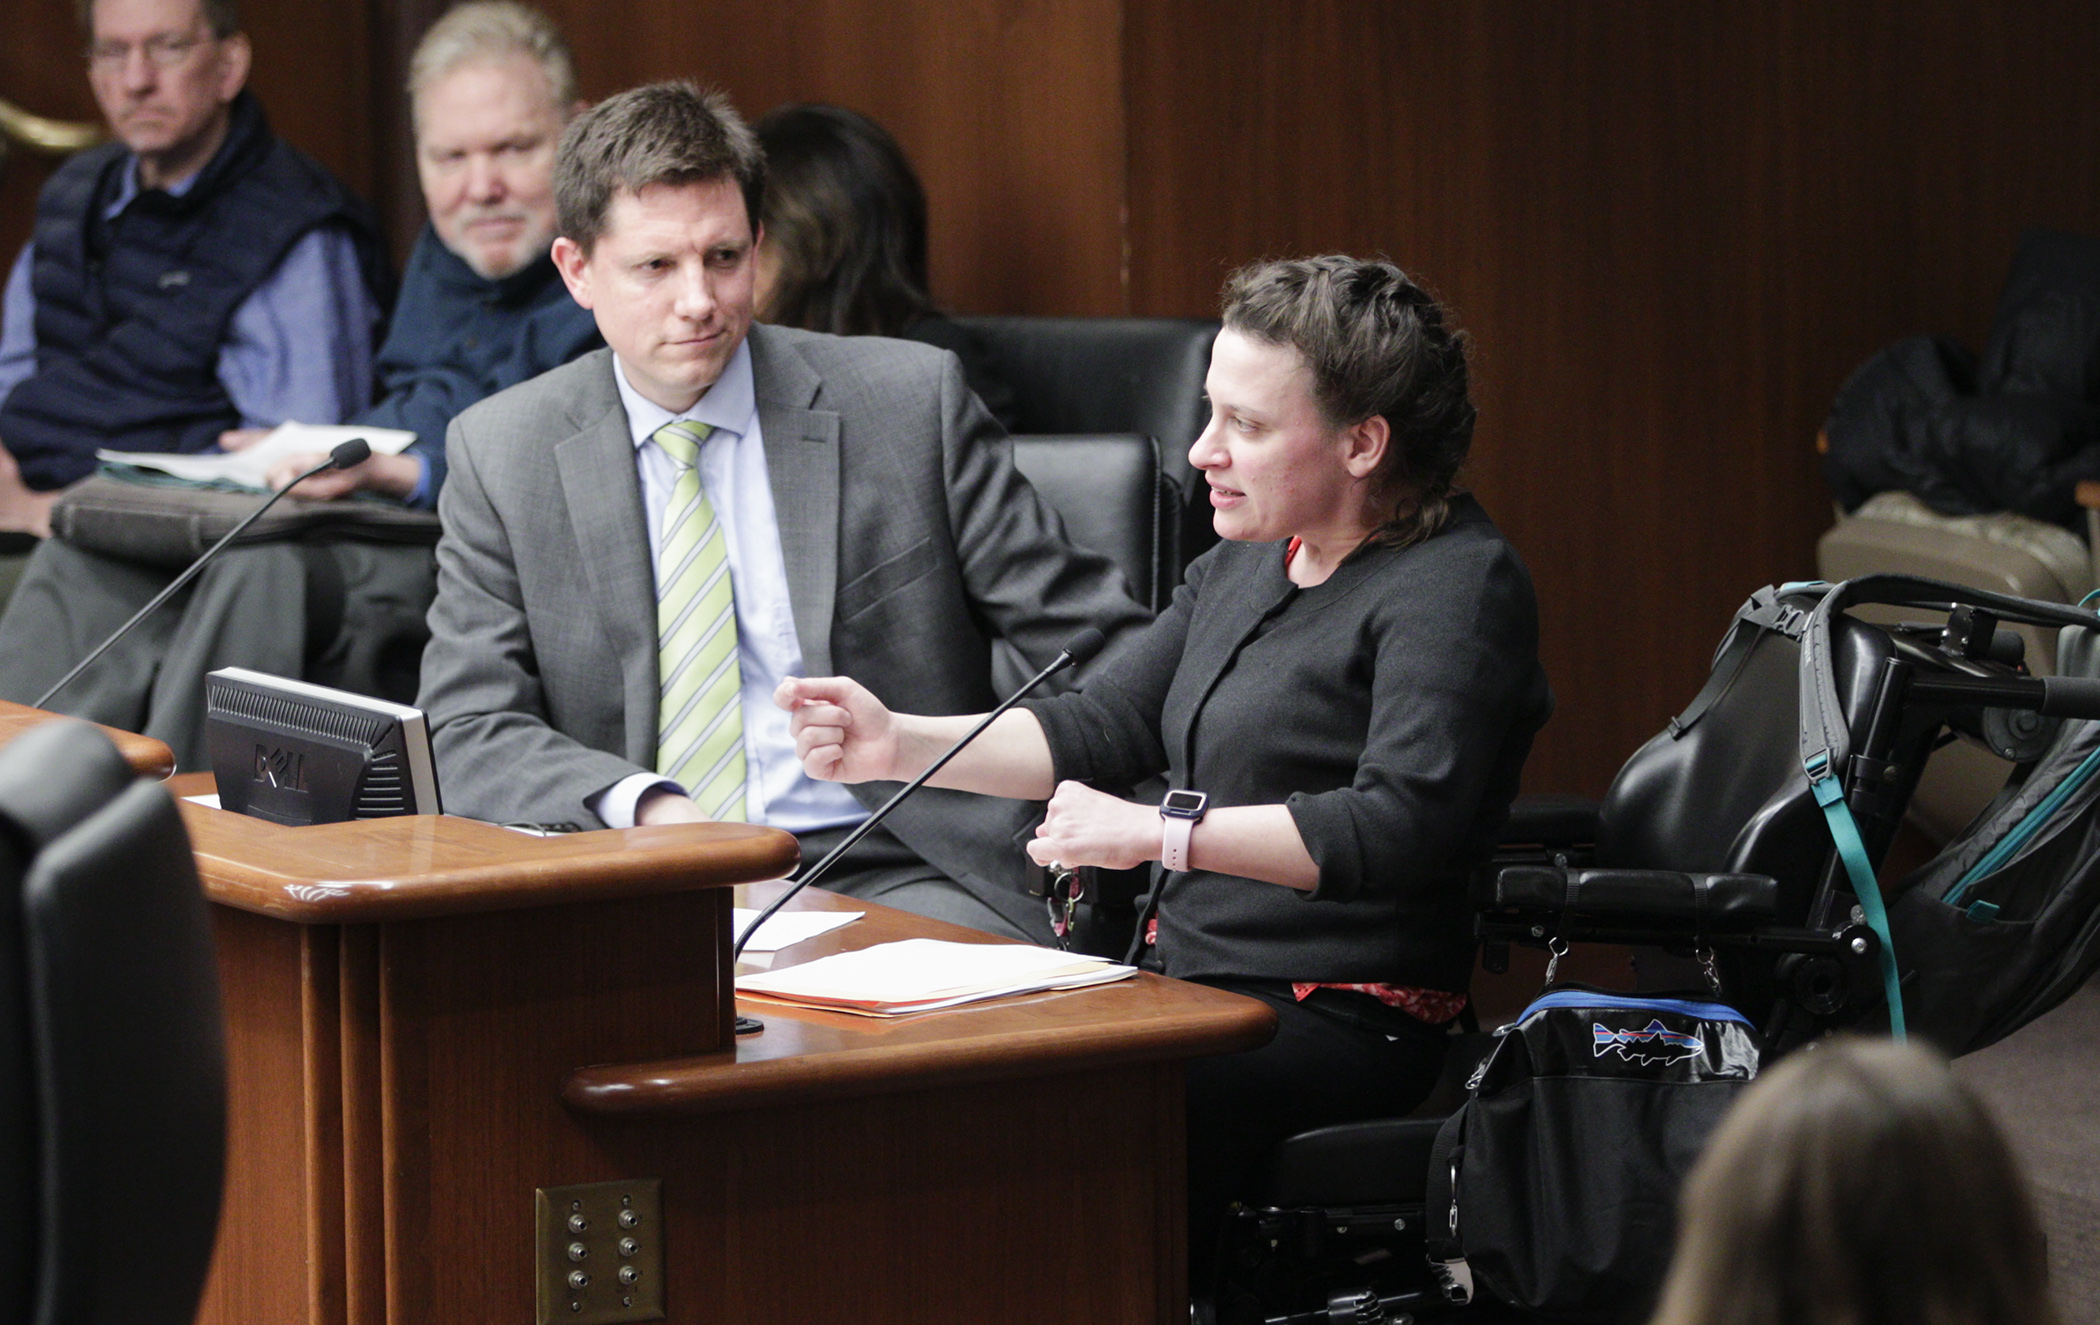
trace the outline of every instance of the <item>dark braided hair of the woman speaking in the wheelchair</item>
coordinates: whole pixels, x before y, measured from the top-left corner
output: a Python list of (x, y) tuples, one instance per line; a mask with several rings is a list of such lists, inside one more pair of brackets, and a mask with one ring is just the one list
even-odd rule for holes
[(1256, 262), (1224, 283), (1224, 325), (1298, 351), (1329, 424), (1388, 422), (1392, 441), (1371, 472), (1373, 542), (1418, 544), (1445, 527), (1474, 407), (1466, 336), (1422, 286), (1378, 258)]

